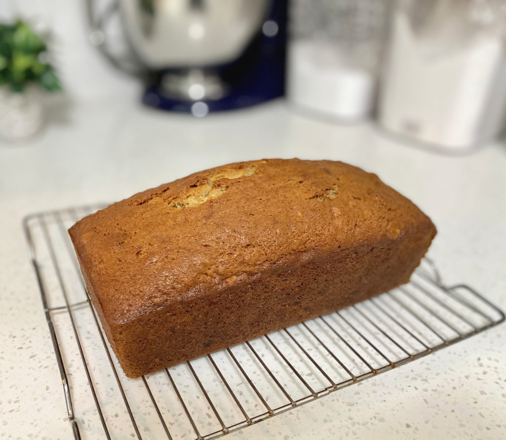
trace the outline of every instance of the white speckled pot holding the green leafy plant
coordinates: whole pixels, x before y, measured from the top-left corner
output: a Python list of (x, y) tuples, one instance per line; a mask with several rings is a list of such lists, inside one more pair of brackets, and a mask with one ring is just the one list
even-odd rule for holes
[(42, 125), (42, 99), (35, 86), (23, 92), (13, 92), (9, 86), (0, 87), (0, 137), (7, 141), (22, 141), (34, 136)]

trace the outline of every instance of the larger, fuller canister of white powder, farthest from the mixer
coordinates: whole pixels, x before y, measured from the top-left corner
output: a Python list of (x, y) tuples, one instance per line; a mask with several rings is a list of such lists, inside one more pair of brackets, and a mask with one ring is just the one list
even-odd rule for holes
[(506, 2), (405, 0), (392, 20), (378, 120), (453, 150), (495, 138), (506, 109)]

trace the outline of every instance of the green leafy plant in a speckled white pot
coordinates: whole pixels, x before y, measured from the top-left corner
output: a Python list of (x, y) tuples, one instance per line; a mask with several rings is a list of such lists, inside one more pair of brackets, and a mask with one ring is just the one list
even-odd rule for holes
[(24, 21), (0, 23), (0, 136), (20, 140), (38, 131), (41, 89), (61, 90), (45, 38)]

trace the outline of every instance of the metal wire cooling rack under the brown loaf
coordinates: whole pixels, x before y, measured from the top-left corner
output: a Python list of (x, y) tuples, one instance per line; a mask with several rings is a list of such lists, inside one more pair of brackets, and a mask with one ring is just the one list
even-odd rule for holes
[(129, 379), (104, 336), (67, 228), (101, 206), (25, 218), (75, 438), (212, 439), (384, 373), (504, 321), (424, 261), (409, 284), (330, 315)]

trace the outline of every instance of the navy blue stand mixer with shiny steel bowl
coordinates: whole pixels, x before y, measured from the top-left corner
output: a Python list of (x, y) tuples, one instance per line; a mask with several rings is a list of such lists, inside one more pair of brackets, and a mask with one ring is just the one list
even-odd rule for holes
[[(286, 0), (113, 0), (100, 11), (95, 3), (87, 0), (90, 40), (145, 81), (148, 106), (204, 116), (284, 92)], [(126, 50), (111, 43), (114, 20)]]

